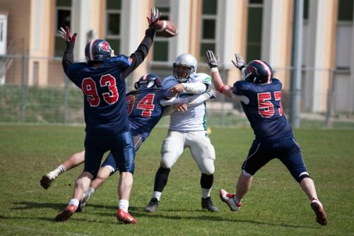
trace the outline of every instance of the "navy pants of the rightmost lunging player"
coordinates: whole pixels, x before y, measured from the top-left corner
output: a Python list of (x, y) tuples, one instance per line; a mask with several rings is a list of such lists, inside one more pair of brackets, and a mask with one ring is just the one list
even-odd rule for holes
[(301, 148), (294, 138), (276, 141), (254, 140), (249, 149), (248, 157), (242, 165), (242, 172), (253, 176), (274, 158), (281, 160), (297, 182), (300, 182), (304, 177), (309, 177), (302, 159)]

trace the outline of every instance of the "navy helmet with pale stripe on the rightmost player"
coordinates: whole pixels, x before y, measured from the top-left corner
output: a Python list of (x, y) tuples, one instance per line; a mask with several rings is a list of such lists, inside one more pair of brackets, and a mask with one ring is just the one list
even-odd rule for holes
[(250, 83), (271, 83), (273, 70), (266, 61), (254, 60), (244, 68), (244, 80)]

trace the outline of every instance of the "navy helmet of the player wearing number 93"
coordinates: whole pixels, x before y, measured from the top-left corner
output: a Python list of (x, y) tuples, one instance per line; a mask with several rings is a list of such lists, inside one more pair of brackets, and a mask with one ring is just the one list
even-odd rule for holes
[(85, 46), (85, 57), (90, 61), (105, 61), (114, 54), (111, 45), (105, 40), (91, 40)]

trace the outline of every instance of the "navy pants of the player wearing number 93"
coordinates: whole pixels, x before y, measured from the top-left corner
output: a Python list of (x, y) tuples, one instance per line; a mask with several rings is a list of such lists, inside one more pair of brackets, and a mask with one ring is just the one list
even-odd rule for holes
[(119, 172), (134, 173), (135, 151), (131, 131), (115, 135), (86, 134), (84, 171), (96, 177), (106, 151), (111, 151)]

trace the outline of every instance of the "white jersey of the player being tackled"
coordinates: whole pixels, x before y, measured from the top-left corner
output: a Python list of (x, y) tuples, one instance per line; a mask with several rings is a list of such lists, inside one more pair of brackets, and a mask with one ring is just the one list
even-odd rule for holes
[[(205, 83), (211, 85), (211, 76), (206, 73), (194, 73), (185, 83)], [(168, 76), (163, 81), (163, 88), (172, 88), (177, 83), (177, 78)], [(183, 91), (179, 97), (194, 95)], [(202, 131), (206, 130), (206, 103), (201, 102), (197, 105), (191, 105), (186, 112), (172, 112), (170, 114), (170, 130), (173, 131)]]

